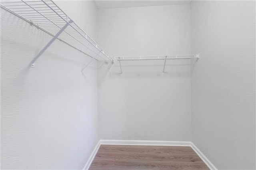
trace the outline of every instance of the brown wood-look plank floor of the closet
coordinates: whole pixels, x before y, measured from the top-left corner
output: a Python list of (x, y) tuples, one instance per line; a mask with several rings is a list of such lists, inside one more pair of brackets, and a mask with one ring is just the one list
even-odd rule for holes
[(101, 145), (89, 170), (209, 170), (190, 147)]

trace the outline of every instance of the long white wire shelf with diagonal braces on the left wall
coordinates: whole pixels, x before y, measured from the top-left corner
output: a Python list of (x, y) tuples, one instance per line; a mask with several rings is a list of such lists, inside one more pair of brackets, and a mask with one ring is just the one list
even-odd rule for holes
[(2, 0), (1, 8), (53, 36), (52, 40), (32, 60), (32, 67), (38, 57), (56, 39), (92, 57), (91, 61), (95, 59), (113, 62), (113, 59), (52, 0)]

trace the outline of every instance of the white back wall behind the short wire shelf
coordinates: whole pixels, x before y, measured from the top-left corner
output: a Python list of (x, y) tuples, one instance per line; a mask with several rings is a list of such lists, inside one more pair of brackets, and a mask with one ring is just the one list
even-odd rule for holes
[[(100, 9), (98, 44), (110, 56), (189, 54), (190, 4)], [(190, 141), (188, 61), (168, 61), (166, 74), (163, 61), (133, 64), (99, 80), (100, 138)]]

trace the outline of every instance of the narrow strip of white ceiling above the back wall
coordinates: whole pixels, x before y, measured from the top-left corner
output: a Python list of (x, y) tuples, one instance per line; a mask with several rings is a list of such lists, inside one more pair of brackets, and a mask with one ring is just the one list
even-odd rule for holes
[(191, 0), (94, 0), (98, 9), (189, 4)]

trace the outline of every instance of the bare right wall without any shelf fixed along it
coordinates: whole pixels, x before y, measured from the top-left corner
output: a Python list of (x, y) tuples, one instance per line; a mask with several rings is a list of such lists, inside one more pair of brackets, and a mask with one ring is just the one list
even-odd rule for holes
[(218, 169), (255, 169), (255, 1), (192, 1), (192, 142)]

